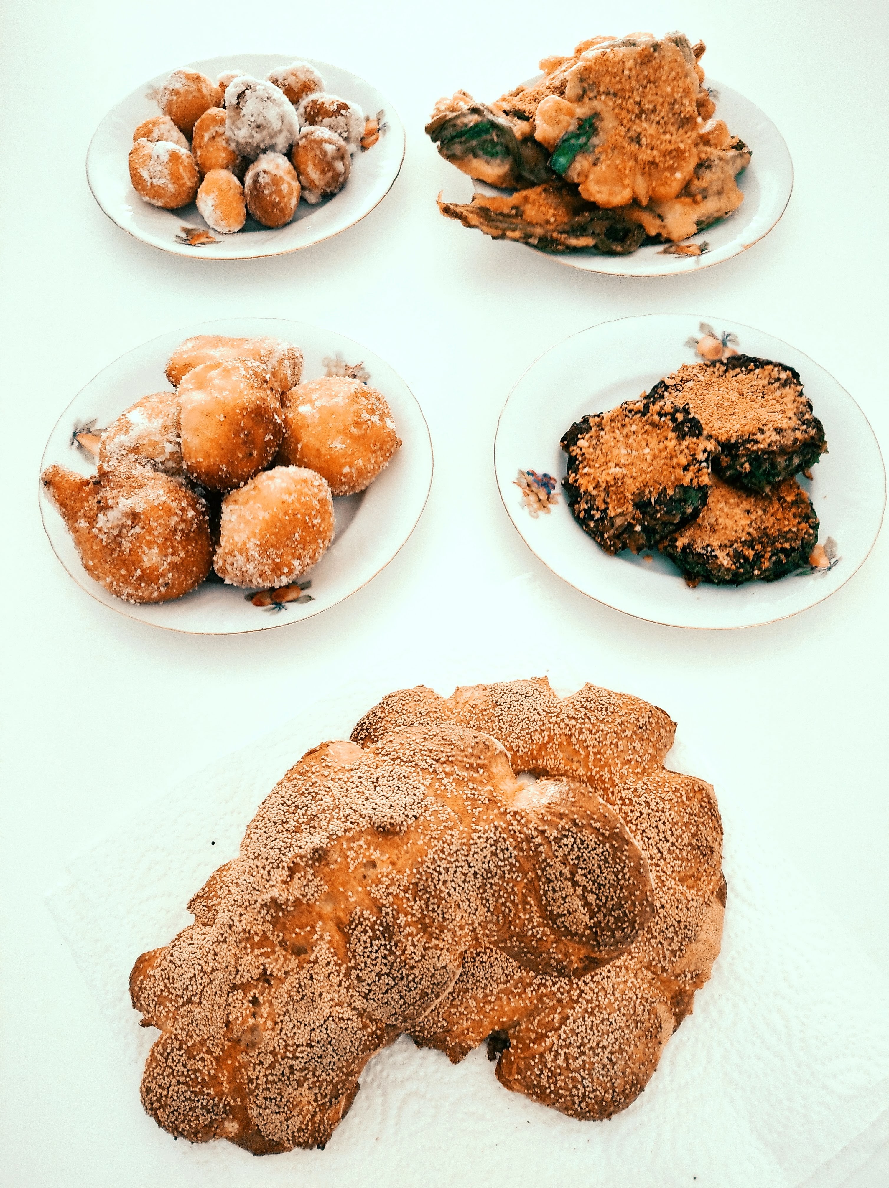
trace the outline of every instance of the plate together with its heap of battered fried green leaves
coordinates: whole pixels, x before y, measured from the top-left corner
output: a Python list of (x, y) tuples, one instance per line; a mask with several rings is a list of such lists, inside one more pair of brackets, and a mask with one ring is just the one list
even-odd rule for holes
[(787, 207), (790, 156), (749, 100), (705, 82), (685, 33), (592, 37), (491, 103), (458, 90), (425, 131), (473, 179), (439, 209), (562, 264), (669, 276), (727, 260)]

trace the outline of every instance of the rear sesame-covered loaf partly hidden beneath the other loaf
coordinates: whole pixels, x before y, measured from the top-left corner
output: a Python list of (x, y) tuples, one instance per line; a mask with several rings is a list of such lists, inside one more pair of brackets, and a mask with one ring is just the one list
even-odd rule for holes
[(609, 1118), (644, 1089), (719, 954), (726, 884), (713, 790), (663, 769), (674, 726), (662, 710), (593, 685), (567, 699), (546, 680), (449, 699), (408, 689), (366, 714), (353, 738), (448, 718), (500, 738), (516, 770), (573, 775), (598, 792), (645, 854), (655, 911), (629, 949), (579, 978), (536, 973), (493, 947), (467, 954), (411, 1035), (454, 1062), (488, 1038), (506, 1088), (574, 1118)]

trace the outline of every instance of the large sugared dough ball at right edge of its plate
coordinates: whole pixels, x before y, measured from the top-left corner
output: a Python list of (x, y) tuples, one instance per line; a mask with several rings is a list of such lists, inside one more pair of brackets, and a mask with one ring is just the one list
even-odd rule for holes
[(402, 444), (385, 398), (357, 379), (313, 379), (282, 399), (276, 462), (317, 470), (335, 495), (364, 491)]

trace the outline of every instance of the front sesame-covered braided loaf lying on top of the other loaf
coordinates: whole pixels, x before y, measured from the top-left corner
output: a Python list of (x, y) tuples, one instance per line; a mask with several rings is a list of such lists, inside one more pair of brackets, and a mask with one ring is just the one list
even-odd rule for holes
[(160, 1030), (143, 1102), (174, 1135), (261, 1154), (323, 1145), (367, 1060), (473, 953), (567, 986), (633, 943), (652, 899), (592, 791), (529, 795), (498, 741), (444, 723), (310, 751), (189, 909), (131, 977)]

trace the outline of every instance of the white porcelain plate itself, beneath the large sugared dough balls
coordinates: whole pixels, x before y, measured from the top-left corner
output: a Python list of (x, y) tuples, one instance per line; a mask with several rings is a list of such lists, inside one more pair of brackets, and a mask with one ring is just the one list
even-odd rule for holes
[(95, 473), (89, 455), (72, 441), (84, 425), (103, 429), (140, 396), (168, 387), (164, 367), (174, 348), (193, 334), (228, 334), (244, 337), (269, 334), (295, 342), (303, 350), (303, 375), (324, 375), (339, 359), (362, 364), (368, 383), (380, 391), (392, 410), (402, 448), (380, 476), (358, 495), (334, 499), (334, 543), (308, 579), (309, 602), (286, 602), (280, 608), (253, 606), (245, 590), (210, 580), (171, 602), (137, 606), (113, 598), (84, 571), (74, 542), (40, 485), (40, 514), (50, 544), (78, 586), (106, 606), (156, 627), (195, 634), (234, 634), (263, 631), (308, 619), (335, 606), (365, 586), (398, 552), (420, 519), (433, 480), (433, 447), (423, 413), (410, 388), (372, 350), (333, 330), (308, 322), (275, 317), (231, 317), (187, 326), (121, 355), (81, 388), (50, 434), (40, 472), (58, 462), (82, 474)]

